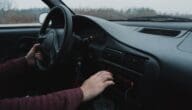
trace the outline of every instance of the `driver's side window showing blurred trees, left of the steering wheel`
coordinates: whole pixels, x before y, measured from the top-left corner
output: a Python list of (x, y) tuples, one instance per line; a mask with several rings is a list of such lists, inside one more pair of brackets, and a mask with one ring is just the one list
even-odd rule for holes
[(0, 0), (0, 25), (39, 23), (48, 10), (41, 0)]

